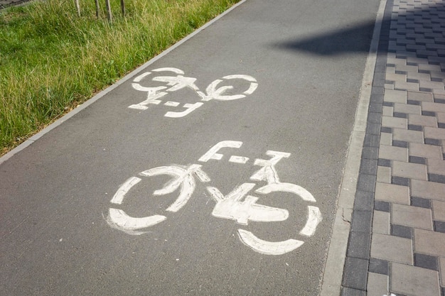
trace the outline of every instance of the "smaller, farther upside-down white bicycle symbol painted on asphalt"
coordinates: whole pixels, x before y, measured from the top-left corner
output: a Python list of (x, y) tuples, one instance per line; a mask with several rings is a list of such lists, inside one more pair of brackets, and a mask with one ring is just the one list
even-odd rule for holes
[[(195, 94), (200, 97), (200, 100), (202, 102), (196, 102), (194, 104), (188, 103), (184, 104), (183, 107), (185, 108), (184, 111), (181, 112), (173, 112), (168, 111), (164, 116), (166, 117), (172, 117), (172, 118), (180, 118), (183, 116), (186, 116), (188, 114), (191, 114), (191, 112), (198, 109), (200, 106), (203, 106), (203, 102), (208, 102), (210, 100), (217, 100), (217, 101), (231, 101), (234, 99), (242, 99), (245, 98), (248, 94), (252, 94), (255, 89), (257, 89), (258, 84), (257, 80), (254, 79), (254, 77), (249, 75), (228, 75), (222, 78), (222, 80), (215, 80), (212, 83), (208, 85), (208, 87), (205, 89), (205, 92), (201, 92), (200, 89), (196, 86), (195, 81), (196, 78), (193, 77), (184, 77), (183, 70), (172, 68), (172, 67), (163, 67), (155, 70), (151, 70), (152, 72), (158, 73), (158, 72), (173, 72), (176, 76), (156, 76), (151, 81), (154, 82), (163, 82), (166, 83), (167, 87), (165, 86), (159, 86), (159, 87), (144, 87), (141, 85), (141, 81), (145, 80), (146, 77), (151, 75), (151, 72), (144, 72), (138, 77), (134, 78), (132, 87), (136, 90), (139, 90), (141, 92), (147, 93), (147, 98), (140, 102), (139, 104), (132, 104), (128, 106), (130, 109), (139, 109), (139, 110), (146, 110), (149, 109), (149, 104), (155, 104), (159, 105), (162, 103), (161, 98), (165, 97), (169, 92), (176, 92), (179, 89), (188, 88), (192, 89)], [(227, 91), (230, 89), (233, 89), (234, 87), (232, 85), (225, 85), (218, 87), (221, 82), (223, 81), (232, 81), (232, 80), (245, 80), (246, 82), (249, 82), (249, 87), (242, 92), (241, 94), (227, 94)], [(180, 103), (178, 102), (164, 102), (165, 106), (179, 106)]]

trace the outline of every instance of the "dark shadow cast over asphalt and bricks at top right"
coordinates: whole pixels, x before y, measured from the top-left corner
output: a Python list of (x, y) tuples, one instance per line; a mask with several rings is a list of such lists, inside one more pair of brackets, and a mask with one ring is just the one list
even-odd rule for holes
[[(395, 46), (398, 49), (397, 53), (405, 50), (409, 56), (425, 58), (428, 55), (422, 52), (422, 45), (428, 47), (429, 44), (435, 43), (436, 49), (441, 47), (445, 50), (445, 21), (441, 20), (445, 20), (445, 1), (431, 4), (431, 6), (414, 7), (409, 4), (403, 7), (399, 6), (399, 13), (392, 13), (392, 1), (388, 1), (385, 18), (380, 23), (376, 23), (376, 25), (381, 25), (382, 28), (379, 50), (387, 51), (388, 45), (395, 44), (401, 46), (400, 48)], [(360, 25), (353, 26), (353, 28), (330, 31), (310, 38), (299, 38), (298, 40), (278, 43), (274, 47), (282, 50), (314, 53), (316, 55), (368, 53), (374, 25), (374, 22), (361, 23)], [(390, 28), (395, 28), (395, 26), (397, 26), (397, 34), (395, 31), (390, 33)], [(426, 31), (431, 31), (431, 33), (426, 33)], [(424, 34), (425, 39), (430, 40), (419, 40), (422, 34)], [(419, 49), (416, 49), (416, 46), (403, 49), (402, 47), (407, 44), (419, 45), (417, 46)], [(389, 51), (391, 51), (391, 48)], [(392, 51), (395, 52), (395, 50)], [(435, 59), (436, 62), (445, 62), (445, 55), (441, 55), (442, 53), (439, 53), (439, 58)]]

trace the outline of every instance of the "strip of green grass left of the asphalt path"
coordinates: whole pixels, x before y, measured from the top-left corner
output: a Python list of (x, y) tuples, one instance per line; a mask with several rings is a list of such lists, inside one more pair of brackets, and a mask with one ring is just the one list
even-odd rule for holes
[[(240, 0), (45, 0), (0, 13), (0, 155)], [(100, 1), (104, 4), (104, 1)], [(104, 5), (103, 5), (104, 6)]]

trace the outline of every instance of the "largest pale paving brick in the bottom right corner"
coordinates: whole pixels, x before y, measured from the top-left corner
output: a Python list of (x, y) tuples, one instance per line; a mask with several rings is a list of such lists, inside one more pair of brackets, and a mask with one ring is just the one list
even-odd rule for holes
[(439, 273), (435, 270), (392, 263), (390, 290), (397, 295), (439, 296)]

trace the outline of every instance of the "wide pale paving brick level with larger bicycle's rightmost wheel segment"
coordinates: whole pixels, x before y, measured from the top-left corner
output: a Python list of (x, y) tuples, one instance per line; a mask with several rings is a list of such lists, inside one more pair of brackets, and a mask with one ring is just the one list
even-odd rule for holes
[(392, 224), (433, 230), (431, 209), (392, 204)]

